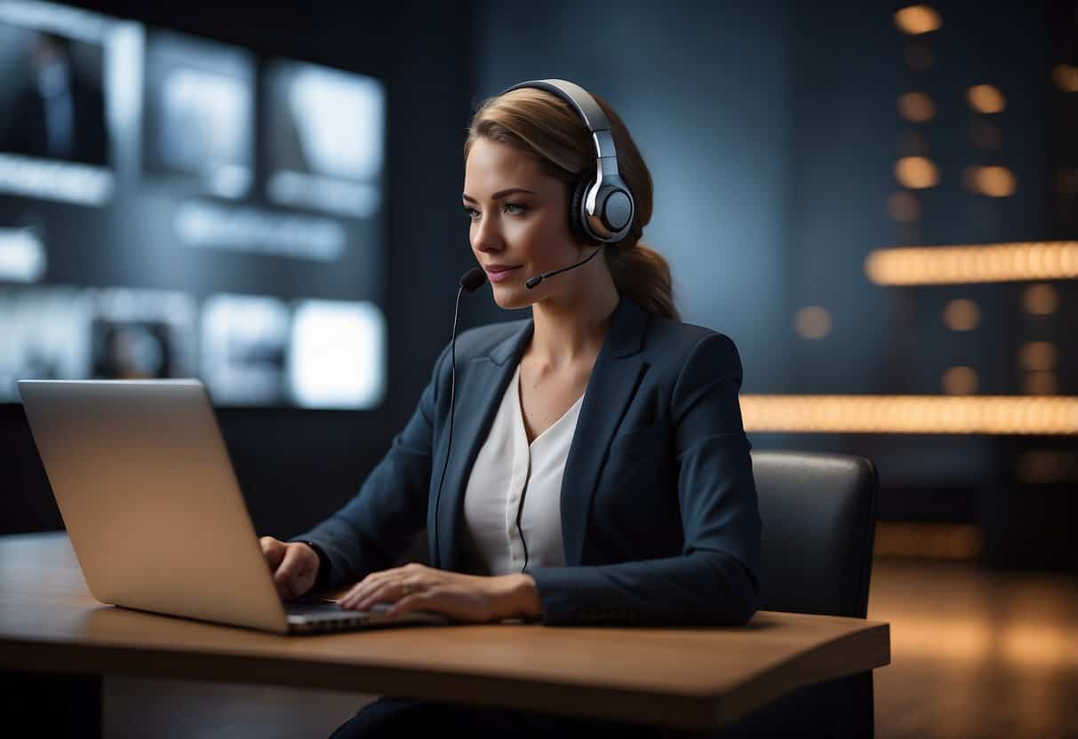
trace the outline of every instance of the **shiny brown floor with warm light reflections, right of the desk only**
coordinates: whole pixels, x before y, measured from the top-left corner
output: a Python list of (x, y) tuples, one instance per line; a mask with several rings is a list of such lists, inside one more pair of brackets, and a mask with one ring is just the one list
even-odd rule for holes
[(1078, 737), (1078, 576), (877, 560), (876, 737)]

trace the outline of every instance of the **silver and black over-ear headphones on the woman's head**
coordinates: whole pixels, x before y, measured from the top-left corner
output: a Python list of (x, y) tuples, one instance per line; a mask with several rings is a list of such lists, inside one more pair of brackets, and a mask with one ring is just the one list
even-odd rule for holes
[(567, 80), (530, 80), (503, 89), (505, 95), (522, 87), (545, 90), (569, 103), (588, 126), (595, 142), (595, 171), (586, 171), (577, 182), (569, 206), (569, 224), (584, 243), (616, 243), (633, 226), (636, 203), (618, 172), (618, 152), (610, 122), (591, 94)]

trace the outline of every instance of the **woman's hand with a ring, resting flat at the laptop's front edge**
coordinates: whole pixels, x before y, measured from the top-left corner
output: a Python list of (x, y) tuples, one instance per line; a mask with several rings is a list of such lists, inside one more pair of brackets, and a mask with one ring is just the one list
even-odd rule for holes
[(372, 572), (338, 603), (341, 608), (356, 611), (368, 611), (378, 603), (393, 603), (388, 612), (390, 617), (411, 611), (428, 611), (473, 623), (538, 618), (542, 614), (531, 575), (482, 577), (415, 563)]

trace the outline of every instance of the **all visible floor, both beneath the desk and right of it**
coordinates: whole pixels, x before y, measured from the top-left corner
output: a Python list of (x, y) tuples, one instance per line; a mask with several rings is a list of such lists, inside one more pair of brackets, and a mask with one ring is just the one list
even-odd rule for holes
[[(877, 559), (876, 737), (1078, 738), (1078, 576)], [(105, 736), (327, 737), (370, 696), (109, 679)]]

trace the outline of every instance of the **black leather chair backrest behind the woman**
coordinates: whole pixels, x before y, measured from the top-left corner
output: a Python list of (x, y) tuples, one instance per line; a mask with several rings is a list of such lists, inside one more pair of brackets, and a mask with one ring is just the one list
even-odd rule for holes
[(761, 608), (865, 618), (879, 478), (863, 457), (754, 451)]

